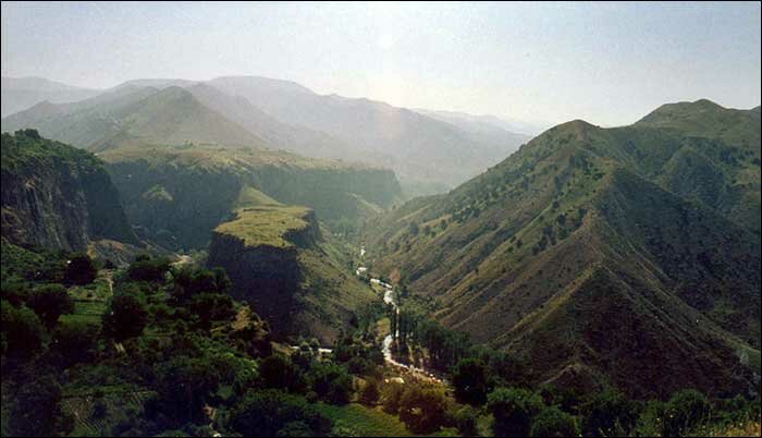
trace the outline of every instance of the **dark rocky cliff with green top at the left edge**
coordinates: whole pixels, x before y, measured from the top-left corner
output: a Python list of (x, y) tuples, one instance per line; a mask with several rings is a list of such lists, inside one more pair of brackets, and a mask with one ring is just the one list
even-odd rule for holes
[(101, 162), (33, 130), (2, 134), (2, 235), (66, 251), (100, 239), (137, 243)]

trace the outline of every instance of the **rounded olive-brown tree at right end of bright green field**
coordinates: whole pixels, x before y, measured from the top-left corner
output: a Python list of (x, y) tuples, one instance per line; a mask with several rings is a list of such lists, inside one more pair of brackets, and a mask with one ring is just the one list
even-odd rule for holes
[(409, 385), (400, 399), (400, 419), (416, 434), (430, 434), (444, 423), (445, 407), (441, 389)]

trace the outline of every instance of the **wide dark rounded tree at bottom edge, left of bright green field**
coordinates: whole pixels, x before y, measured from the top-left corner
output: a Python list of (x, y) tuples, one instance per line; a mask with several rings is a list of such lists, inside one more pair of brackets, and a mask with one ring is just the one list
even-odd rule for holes
[(279, 433), (287, 436), (286, 431), (296, 428), (294, 422), (307, 425), (312, 436), (331, 430), (330, 419), (319, 414), (303, 397), (273, 389), (249, 390), (231, 409), (229, 426), (245, 437), (274, 437)]

